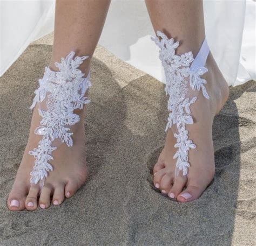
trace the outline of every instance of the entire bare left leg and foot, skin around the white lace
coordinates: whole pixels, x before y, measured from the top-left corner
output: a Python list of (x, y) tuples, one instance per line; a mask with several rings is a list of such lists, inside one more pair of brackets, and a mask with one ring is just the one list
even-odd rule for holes
[[(89, 73), (92, 54), (102, 32), (109, 4), (110, 0), (56, 1), (55, 33), (49, 65), (51, 70), (58, 71), (55, 62), (60, 62), (61, 58), (75, 51), (79, 57), (89, 55), (79, 66), (84, 76)], [(9, 194), (8, 208), (11, 210), (35, 210), (38, 196), (41, 208), (50, 206), (51, 196), (53, 204), (59, 205), (65, 196), (72, 196), (86, 180), (84, 107), (83, 110), (75, 111), (80, 116), (80, 121), (71, 126), (73, 146), (68, 147), (63, 143), (52, 152), (53, 160), (50, 163), (53, 171), (45, 179), (41, 193), (38, 183), (30, 183), (30, 172), (33, 170), (35, 158), (28, 152), (42, 139), (35, 134), (35, 129), (42, 120), (37, 109), (38, 103), (33, 110), (28, 144)]]

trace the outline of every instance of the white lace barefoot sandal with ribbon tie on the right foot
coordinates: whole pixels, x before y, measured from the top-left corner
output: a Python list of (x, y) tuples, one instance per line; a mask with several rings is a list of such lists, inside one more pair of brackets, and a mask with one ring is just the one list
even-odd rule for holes
[[(162, 62), (166, 77), (165, 92), (169, 95), (168, 110), (170, 111), (168, 122), (165, 128), (167, 131), (173, 125), (177, 127), (177, 133), (174, 133), (174, 137), (177, 138), (177, 143), (174, 147), (178, 148), (178, 151), (174, 154), (173, 158), (177, 158), (175, 177), (182, 171), (183, 175), (188, 174), (188, 151), (190, 149), (196, 149), (196, 144), (188, 138), (188, 130), (186, 130), (186, 124), (193, 124), (193, 118), (190, 115), (190, 105), (197, 100), (197, 96), (192, 98), (187, 97), (189, 86), (192, 90), (202, 89), (203, 95), (206, 99), (209, 99), (205, 88), (206, 80), (201, 78), (208, 71), (205, 67), (205, 63), (210, 52), (206, 38), (200, 47), (200, 50), (193, 58), (192, 52), (186, 52), (184, 54), (175, 54), (175, 49), (179, 46), (179, 42), (174, 43), (173, 38), (168, 39), (166, 35), (157, 31), (158, 37), (151, 37), (151, 39), (159, 46), (159, 58)], [(187, 79), (186, 79), (187, 78)]]

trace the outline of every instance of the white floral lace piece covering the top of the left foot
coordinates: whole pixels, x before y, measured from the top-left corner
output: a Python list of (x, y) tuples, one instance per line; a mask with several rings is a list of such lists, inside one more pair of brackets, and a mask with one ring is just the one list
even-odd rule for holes
[(51, 153), (57, 147), (52, 146), (53, 140), (59, 138), (62, 143), (69, 147), (73, 145), (73, 140), (69, 125), (79, 122), (79, 115), (74, 114), (73, 110), (83, 109), (84, 104), (90, 100), (84, 96), (86, 90), (91, 86), (90, 73), (87, 78), (83, 78), (84, 73), (78, 69), (79, 65), (88, 56), (76, 57), (75, 52), (71, 51), (61, 62), (56, 62), (59, 72), (52, 71), (45, 67), (43, 79), (39, 80), (39, 88), (35, 90), (35, 97), (30, 109), (46, 99), (47, 110), (38, 108), (38, 113), (42, 117), (40, 126), (35, 130), (37, 135), (43, 138), (39, 141), (38, 147), (29, 151), (35, 157), (35, 166), (30, 173), (31, 184), (37, 184), (39, 180), (47, 177), (48, 172), (52, 171), (53, 160)]

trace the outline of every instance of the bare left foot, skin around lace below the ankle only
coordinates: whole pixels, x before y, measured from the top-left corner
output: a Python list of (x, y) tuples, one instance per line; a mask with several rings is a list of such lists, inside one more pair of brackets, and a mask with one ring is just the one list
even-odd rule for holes
[(28, 153), (37, 147), (39, 140), (42, 139), (42, 136), (34, 133), (42, 120), (38, 114), (38, 105), (36, 105), (33, 110), (28, 144), (7, 201), (10, 210), (18, 211), (25, 208), (35, 210), (38, 205), (41, 208), (48, 208), (51, 201), (53, 205), (60, 205), (65, 197), (70, 198), (84, 184), (87, 175), (84, 151), (85, 110), (86, 106), (83, 110), (75, 110), (75, 113), (80, 116), (80, 121), (71, 126), (73, 146), (68, 147), (62, 143), (57, 150), (52, 152), (53, 160), (50, 163), (53, 171), (48, 173), (42, 191), (39, 191), (39, 182), (36, 185), (30, 184), (30, 172), (33, 169), (35, 158)]

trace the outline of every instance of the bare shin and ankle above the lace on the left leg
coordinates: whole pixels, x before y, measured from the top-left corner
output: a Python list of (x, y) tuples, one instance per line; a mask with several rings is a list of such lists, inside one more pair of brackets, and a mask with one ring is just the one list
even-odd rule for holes
[(87, 75), (90, 62), (105, 23), (111, 0), (57, 0), (55, 31), (50, 68), (70, 51), (89, 55), (80, 66)]

